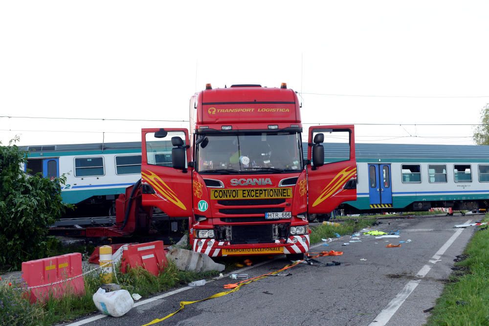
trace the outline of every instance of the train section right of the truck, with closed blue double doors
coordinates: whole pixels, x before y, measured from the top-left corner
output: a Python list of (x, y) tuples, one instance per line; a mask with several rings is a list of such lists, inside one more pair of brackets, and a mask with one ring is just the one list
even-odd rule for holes
[[(326, 162), (342, 147), (325, 145)], [(489, 146), (356, 144), (356, 161), (357, 200), (340, 206), (346, 213), (489, 206)]]

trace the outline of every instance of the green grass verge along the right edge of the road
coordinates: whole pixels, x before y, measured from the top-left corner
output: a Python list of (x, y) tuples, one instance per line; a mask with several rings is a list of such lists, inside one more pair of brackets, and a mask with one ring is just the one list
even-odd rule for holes
[(489, 230), (475, 233), (464, 254), (467, 259), (455, 265), (467, 270), (450, 276), (428, 326), (489, 325)]

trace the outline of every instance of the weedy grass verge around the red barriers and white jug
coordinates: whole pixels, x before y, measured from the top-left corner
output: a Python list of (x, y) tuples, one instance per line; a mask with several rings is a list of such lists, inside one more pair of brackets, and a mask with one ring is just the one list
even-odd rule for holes
[[(198, 279), (209, 279), (219, 272), (179, 271), (172, 262), (159, 276), (154, 276), (141, 268), (131, 269), (127, 274), (117, 274), (118, 284), (129, 293), (138, 293), (143, 298), (167, 291), (179, 285)], [(66, 295), (62, 299), (49, 298), (44, 304), (30, 304), (22, 298), (22, 291), (15, 290), (19, 285), (8, 285), (8, 280), (0, 281), (0, 325), (52, 325), (72, 321), (83, 315), (97, 311), (92, 296), (101, 285), (96, 272), (84, 277), (85, 295), (76, 297)], [(116, 283), (116, 280), (113, 279)]]

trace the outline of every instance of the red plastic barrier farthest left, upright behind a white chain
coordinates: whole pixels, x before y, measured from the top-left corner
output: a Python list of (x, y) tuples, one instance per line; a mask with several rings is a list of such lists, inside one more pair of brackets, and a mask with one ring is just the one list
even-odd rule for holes
[[(74, 253), (22, 263), (22, 279), (28, 287), (69, 279), (82, 274), (82, 254)], [(31, 303), (44, 301), (49, 296), (61, 298), (65, 293), (85, 294), (83, 277), (28, 290)]]

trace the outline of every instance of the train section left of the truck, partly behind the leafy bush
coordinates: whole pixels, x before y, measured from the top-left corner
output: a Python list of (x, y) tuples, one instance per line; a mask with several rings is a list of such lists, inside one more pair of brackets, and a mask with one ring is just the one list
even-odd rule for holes
[(76, 214), (114, 214), (114, 200), (141, 178), (141, 143), (116, 142), (23, 146), (24, 171), (53, 179), (66, 174), (63, 201), (76, 204)]

